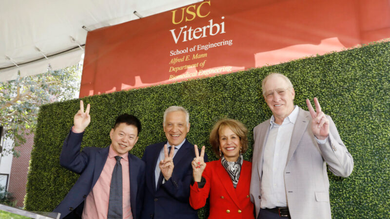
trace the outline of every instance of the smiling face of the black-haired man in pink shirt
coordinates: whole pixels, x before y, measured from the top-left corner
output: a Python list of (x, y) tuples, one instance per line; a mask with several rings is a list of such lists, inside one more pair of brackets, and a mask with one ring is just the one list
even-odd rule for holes
[(116, 128), (111, 129), (111, 146), (119, 156), (127, 154), (138, 141), (137, 127), (120, 123)]

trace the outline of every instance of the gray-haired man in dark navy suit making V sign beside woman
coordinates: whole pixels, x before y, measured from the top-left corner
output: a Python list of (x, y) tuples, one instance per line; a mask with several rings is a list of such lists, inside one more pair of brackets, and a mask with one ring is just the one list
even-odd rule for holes
[[(142, 157), (146, 164), (142, 219), (197, 219), (189, 203), (195, 152), (186, 139), (190, 130), (187, 110), (169, 107), (163, 128), (168, 141), (147, 146)], [(207, 155), (204, 159), (207, 162)]]

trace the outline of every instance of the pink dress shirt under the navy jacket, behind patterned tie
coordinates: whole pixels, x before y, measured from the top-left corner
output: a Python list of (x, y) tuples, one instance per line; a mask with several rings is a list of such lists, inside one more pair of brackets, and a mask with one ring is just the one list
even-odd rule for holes
[[(110, 197), (110, 184), (117, 153), (112, 149), (108, 152), (107, 161), (104, 164), (100, 177), (92, 191), (88, 194), (84, 202), (82, 212), (83, 219), (106, 219), (108, 214), (108, 199)], [(130, 176), (129, 176), (129, 158), (127, 154), (121, 156), (120, 164), (122, 165), (122, 204), (123, 218), (133, 219), (130, 206)]]

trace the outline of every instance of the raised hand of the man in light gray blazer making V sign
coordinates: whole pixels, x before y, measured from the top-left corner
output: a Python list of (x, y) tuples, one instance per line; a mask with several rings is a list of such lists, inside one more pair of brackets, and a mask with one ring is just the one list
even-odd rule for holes
[(325, 113), (321, 111), (317, 97), (314, 97), (316, 111), (314, 111), (309, 99), (306, 99), (306, 105), (312, 115), (312, 132), (314, 136), (319, 140), (325, 140), (329, 136), (329, 120), (326, 118)]

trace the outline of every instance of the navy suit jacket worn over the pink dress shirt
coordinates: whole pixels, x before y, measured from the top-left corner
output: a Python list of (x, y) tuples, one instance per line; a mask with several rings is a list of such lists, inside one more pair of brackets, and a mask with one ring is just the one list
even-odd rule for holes
[[(61, 166), (81, 174), (64, 200), (53, 212), (61, 213), (61, 219), (81, 218), (84, 200), (98, 181), (108, 157), (110, 146), (105, 148), (85, 147), (80, 152), (83, 133), (69, 132), (59, 157)], [(139, 219), (142, 209), (145, 183), (145, 163), (129, 154), (130, 205), (134, 219)]]

